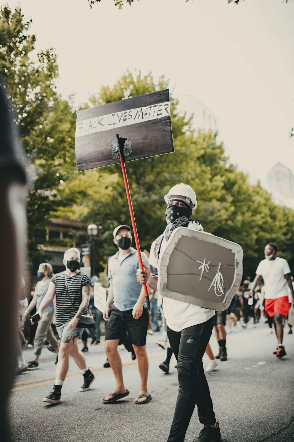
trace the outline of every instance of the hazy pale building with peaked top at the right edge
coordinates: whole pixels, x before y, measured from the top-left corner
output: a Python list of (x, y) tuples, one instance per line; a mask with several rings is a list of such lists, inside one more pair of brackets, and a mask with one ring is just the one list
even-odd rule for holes
[(293, 206), (294, 175), (291, 169), (278, 162), (268, 172), (267, 182), (275, 202)]

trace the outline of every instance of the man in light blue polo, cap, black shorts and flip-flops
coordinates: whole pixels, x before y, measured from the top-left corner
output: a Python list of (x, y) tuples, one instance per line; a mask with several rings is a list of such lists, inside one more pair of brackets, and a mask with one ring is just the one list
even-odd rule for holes
[[(149, 313), (145, 304), (145, 292), (136, 277), (139, 267), (138, 252), (131, 247), (132, 236), (128, 225), (119, 225), (113, 231), (114, 243), (119, 251), (108, 261), (110, 286), (103, 312), (108, 321), (105, 328), (105, 351), (115, 376), (116, 386), (104, 397), (104, 403), (115, 402), (129, 394), (123, 383), (122, 362), (117, 351), (119, 340), (128, 332), (130, 342), (138, 360), (141, 389), (135, 404), (147, 404), (151, 395), (147, 389), (148, 357), (146, 354), (146, 335)], [(148, 266), (145, 253), (142, 260)]]

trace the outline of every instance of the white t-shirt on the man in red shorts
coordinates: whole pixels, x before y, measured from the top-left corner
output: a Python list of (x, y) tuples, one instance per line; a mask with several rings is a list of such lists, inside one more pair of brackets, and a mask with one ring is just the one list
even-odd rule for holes
[(286, 259), (276, 256), (275, 259), (264, 259), (258, 264), (256, 274), (261, 275), (265, 286), (265, 299), (288, 296), (288, 282), (285, 274), (290, 273)]

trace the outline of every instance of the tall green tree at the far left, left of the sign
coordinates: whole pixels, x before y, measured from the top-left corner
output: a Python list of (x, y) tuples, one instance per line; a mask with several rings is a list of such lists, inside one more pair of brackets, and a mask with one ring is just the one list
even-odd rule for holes
[(0, 72), (31, 164), (27, 217), (33, 255), (37, 251), (34, 229), (54, 212), (60, 181), (74, 174), (75, 114), (71, 101), (56, 92), (59, 74), (54, 50), (41, 51), (37, 61), (30, 59), (36, 40), (29, 33), (30, 24), (20, 7), (15, 11), (1, 8)]

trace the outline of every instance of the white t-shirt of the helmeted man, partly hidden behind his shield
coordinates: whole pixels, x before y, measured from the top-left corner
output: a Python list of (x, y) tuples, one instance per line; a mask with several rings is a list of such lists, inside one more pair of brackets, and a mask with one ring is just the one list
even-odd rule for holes
[[(188, 229), (203, 232), (203, 227), (201, 224), (195, 221), (189, 222)], [(160, 247), (160, 253), (164, 250), (166, 245), (167, 241), (164, 235), (164, 239)], [(152, 243), (150, 250), (149, 268), (151, 273), (157, 276), (157, 263), (154, 248), (155, 241)], [(203, 307), (198, 307), (197, 305), (176, 301), (175, 299), (170, 299), (167, 297), (164, 297), (162, 306), (167, 325), (169, 328), (171, 328), (171, 330), (174, 331), (181, 331), (183, 328), (192, 327), (192, 325), (196, 324), (202, 324), (215, 315), (214, 310), (204, 309)]]

